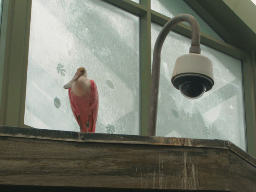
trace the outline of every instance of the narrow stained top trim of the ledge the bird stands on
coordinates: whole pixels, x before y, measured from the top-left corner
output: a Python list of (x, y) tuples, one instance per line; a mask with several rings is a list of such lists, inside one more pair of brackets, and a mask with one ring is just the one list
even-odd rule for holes
[(139, 135), (85, 133), (49, 129), (22, 128), (0, 125), (0, 136), (25, 137), (47, 140), (63, 140), (95, 143), (122, 143), (143, 145), (171, 145), (200, 148), (226, 148), (256, 166), (256, 158), (227, 140), (204, 140), (178, 137), (152, 137)]

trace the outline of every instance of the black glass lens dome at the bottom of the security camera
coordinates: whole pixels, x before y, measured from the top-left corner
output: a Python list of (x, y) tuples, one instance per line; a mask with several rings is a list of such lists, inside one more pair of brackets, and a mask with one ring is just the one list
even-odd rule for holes
[(204, 94), (206, 87), (198, 81), (184, 81), (179, 85), (179, 90), (186, 98), (197, 99)]

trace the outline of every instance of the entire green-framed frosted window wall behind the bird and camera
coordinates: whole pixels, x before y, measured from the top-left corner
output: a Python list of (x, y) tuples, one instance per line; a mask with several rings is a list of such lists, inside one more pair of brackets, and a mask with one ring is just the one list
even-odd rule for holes
[[(249, 34), (237, 39), (238, 31), (226, 29), (227, 20), (222, 19), (228, 17), (228, 6), (221, 12), (215, 1), (207, 1), (212, 6), (186, 0), (2, 2), (1, 125), (79, 131), (62, 87), (78, 67), (87, 65), (100, 94), (96, 132), (114, 127), (115, 134), (146, 135), (151, 46), (169, 17), (188, 13), (200, 23), (202, 54), (215, 65), (215, 85), (204, 97), (189, 102), (172, 88), (166, 74), (172, 73), (178, 56), (189, 52), (191, 35), (188, 26), (178, 25), (165, 42), (175, 49), (162, 51), (157, 135), (231, 140), (244, 150), (247, 144), (256, 156), (255, 53), (250, 43), (255, 38)], [(230, 24), (234, 28), (241, 22), (235, 16)], [(241, 50), (237, 44), (250, 46)], [(167, 55), (167, 49), (173, 54)]]

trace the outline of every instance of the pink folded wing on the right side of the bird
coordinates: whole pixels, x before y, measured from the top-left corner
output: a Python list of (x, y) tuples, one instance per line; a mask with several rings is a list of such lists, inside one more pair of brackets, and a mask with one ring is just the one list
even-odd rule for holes
[(92, 94), (92, 103), (90, 108), (92, 109), (93, 115), (93, 129), (95, 129), (96, 121), (98, 118), (98, 109), (99, 109), (99, 94), (96, 83), (93, 80), (90, 80), (91, 83), (91, 94)]

